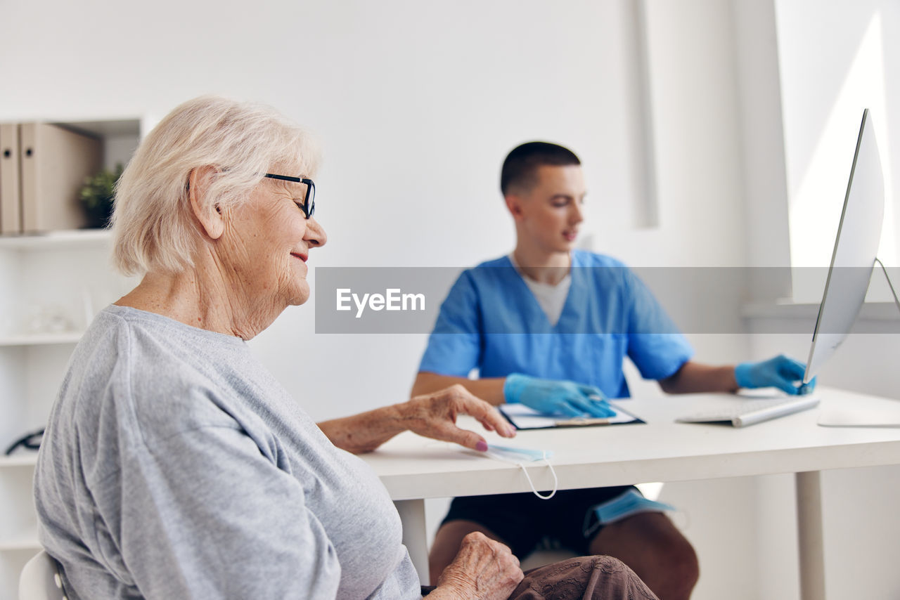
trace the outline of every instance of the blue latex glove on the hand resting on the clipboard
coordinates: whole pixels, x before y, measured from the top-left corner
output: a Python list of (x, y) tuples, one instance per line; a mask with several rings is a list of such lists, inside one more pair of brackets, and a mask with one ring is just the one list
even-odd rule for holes
[(603, 392), (574, 381), (542, 380), (511, 373), (503, 384), (503, 397), (509, 403), (521, 402), (548, 415), (616, 416), (616, 411), (603, 399)]

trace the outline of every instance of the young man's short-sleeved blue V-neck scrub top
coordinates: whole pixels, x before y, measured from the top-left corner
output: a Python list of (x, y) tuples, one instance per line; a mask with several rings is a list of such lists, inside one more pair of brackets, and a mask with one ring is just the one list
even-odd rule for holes
[(627, 398), (626, 355), (644, 379), (677, 372), (694, 354), (653, 293), (625, 264), (572, 251), (572, 287), (556, 325), (508, 256), (462, 273), (441, 305), (419, 371), (466, 377), (518, 372), (597, 386)]

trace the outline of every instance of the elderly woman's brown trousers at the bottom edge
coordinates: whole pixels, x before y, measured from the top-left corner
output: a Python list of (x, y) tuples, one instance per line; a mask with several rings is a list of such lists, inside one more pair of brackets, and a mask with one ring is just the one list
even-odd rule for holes
[[(433, 587), (422, 587), (427, 596)], [(582, 556), (526, 571), (509, 600), (658, 600), (635, 571), (610, 556)]]

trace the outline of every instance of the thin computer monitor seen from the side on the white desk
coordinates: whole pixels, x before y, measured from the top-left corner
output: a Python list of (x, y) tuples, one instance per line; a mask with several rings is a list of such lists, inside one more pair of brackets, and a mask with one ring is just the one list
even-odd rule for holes
[(850, 333), (869, 290), (885, 214), (885, 178), (871, 121), (866, 109), (862, 112), (832, 264), (815, 319), (804, 383), (812, 381)]

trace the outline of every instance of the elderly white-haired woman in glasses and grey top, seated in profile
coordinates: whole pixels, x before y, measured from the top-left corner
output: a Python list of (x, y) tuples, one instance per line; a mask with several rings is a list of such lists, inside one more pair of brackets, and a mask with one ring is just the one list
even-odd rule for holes
[(458, 387), (316, 425), (250, 353), (246, 340), (310, 295), (307, 260), (326, 241), (317, 157), (271, 109), (204, 97), (160, 122), (122, 175), (114, 260), (143, 278), (76, 347), (35, 475), (40, 542), (67, 596), (653, 597), (608, 557), (523, 579), (480, 533), (419, 587), (391, 499), (354, 453), (404, 430), (483, 451), (461, 413), (513, 432)]

